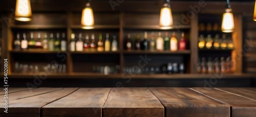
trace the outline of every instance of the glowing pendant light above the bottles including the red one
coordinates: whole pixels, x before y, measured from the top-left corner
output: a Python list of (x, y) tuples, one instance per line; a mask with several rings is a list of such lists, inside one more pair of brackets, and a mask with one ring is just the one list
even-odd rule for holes
[(170, 29), (173, 26), (173, 15), (170, 9), (170, 1), (166, 0), (160, 11), (160, 28)]

